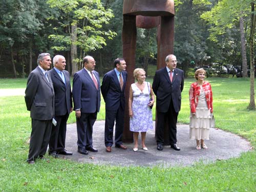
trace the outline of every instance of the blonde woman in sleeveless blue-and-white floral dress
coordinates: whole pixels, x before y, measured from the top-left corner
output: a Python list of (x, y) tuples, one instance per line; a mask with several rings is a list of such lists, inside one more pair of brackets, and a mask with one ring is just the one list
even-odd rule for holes
[[(149, 82), (145, 82), (145, 71), (141, 68), (134, 70), (134, 78), (137, 82), (131, 84), (129, 94), (129, 116), (130, 131), (134, 132), (134, 148), (138, 151), (138, 138), (141, 132), (141, 147), (147, 151), (145, 138), (147, 130), (153, 129), (152, 106), (155, 102), (155, 96)], [(150, 101), (151, 98), (151, 101)]]

